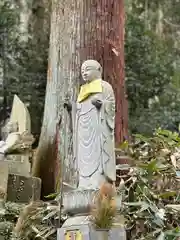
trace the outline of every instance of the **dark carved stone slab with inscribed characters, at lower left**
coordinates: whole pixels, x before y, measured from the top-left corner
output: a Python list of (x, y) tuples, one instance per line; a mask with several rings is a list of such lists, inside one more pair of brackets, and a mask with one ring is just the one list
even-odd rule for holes
[(7, 201), (28, 203), (39, 200), (41, 194), (41, 179), (9, 174)]

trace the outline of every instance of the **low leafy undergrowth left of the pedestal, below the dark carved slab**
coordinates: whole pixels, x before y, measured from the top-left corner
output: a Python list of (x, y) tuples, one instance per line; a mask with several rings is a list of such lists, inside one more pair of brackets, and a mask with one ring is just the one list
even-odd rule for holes
[(4, 240), (54, 240), (58, 215), (58, 204), (7, 202), (0, 211), (0, 237)]

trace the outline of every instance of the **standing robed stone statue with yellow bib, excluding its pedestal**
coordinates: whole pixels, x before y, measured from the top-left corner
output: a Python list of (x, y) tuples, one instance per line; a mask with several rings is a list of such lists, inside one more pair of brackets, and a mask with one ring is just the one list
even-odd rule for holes
[(85, 61), (81, 74), (84, 84), (75, 106), (69, 102), (64, 106), (72, 113), (78, 189), (99, 189), (116, 180), (115, 97), (111, 85), (102, 80), (97, 61)]

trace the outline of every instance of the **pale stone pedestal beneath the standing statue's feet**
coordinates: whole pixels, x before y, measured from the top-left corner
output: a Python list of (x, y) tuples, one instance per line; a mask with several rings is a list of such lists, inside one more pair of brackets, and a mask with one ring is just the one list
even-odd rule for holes
[[(91, 221), (90, 208), (94, 204), (98, 191), (74, 190), (63, 195), (63, 213), (69, 217), (61, 228), (57, 230), (57, 240), (126, 240), (126, 231), (118, 220), (114, 220), (111, 229), (96, 229)], [(115, 198), (117, 209), (121, 208), (118, 196)]]

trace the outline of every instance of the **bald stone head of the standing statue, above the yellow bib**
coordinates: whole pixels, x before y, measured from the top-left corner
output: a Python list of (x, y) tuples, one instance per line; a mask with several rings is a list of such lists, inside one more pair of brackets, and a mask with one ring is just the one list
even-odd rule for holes
[(102, 67), (96, 60), (86, 60), (81, 66), (84, 82), (91, 82), (102, 78)]

